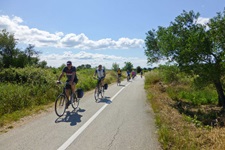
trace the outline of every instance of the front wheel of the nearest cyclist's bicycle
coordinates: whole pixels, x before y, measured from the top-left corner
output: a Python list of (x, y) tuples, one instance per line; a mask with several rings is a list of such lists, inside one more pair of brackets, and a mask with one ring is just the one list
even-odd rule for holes
[(66, 110), (66, 96), (64, 94), (60, 94), (55, 100), (55, 113), (57, 116), (63, 116)]

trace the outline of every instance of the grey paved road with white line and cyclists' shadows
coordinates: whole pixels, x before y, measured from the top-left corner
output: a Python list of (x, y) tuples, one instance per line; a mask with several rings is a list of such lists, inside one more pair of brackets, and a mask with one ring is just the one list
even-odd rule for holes
[(110, 85), (105, 98), (85, 93), (76, 112), (58, 118), (52, 111), (0, 135), (2, 150), (158, 150), (154, 115), (144, 79)]

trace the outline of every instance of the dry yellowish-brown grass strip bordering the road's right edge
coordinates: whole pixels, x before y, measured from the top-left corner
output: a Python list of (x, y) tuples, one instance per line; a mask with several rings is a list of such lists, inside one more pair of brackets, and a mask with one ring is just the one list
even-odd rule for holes
[[(166, 92), (168, 86), (162, 84), (157, 72), (149, 72), (145, 77), (145, 89), (155, 112), (159, 142), (163, 149), (225, 149), (224, 127), (204, 125), (202, 120), (199, 120), (200, 116), (209, 116), (212, 112), (219, 112), (217, 106), (210, 104), (188, 108), (187, 105), (171, 99)], [(189, 113), (184, 113), (185, 109)], [(211, 110), (210, 114), (209, 110)]]

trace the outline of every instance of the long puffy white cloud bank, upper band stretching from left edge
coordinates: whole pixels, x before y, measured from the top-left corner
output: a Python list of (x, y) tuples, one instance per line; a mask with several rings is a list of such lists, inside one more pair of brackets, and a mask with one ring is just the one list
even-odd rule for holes
[(56, 48), (75, 48), (75, 49), (131, 49), (142, 48), (144, 40), (120, 38), (117, 41), (111, 38), (90, 40), (84, 33), (63, 32), (49, 33), (37, 28), (29, 28), (22, 25), (23, 20), (20, 17), (0, 16), (0, 30), (6, 29), (15, 34), (19, 43), (34, 44), (36, 47), (56, 47)]

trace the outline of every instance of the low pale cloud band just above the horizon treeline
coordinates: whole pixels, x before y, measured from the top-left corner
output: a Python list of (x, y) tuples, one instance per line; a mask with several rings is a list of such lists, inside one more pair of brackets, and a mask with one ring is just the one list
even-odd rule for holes
[(107, 69), (112, 68), (113, 63), (119, 64), (122, 68), (124, 67), (124, 62), (131, 62), (134, 67), (141, 66), (146, 67), (147, 59), (140, 59), (137, 57), (119, 57), (114, 55), (104, 55), (99, 53), (87, 53), (81, 51), (79, 53), (73, 53), (71, 51), (64, 52), (63, 54), (49, 54), (41, 55), (41, 61), (45, 60), (48, 66), (59, 67), (65, 64), (68, 60), (71, 60), (73, 65), (79, 66), (82, 64), (90, 64), (92, 67), (102, 64)]

